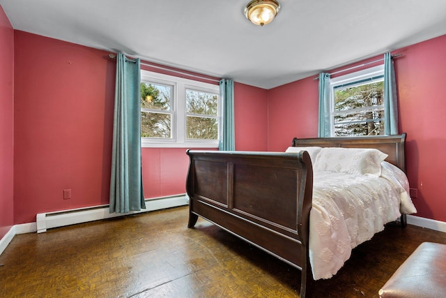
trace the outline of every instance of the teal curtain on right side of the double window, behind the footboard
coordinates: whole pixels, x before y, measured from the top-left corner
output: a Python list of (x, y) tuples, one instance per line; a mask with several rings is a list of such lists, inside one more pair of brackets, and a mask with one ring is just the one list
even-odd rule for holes
[(236, 137), (234, 128), (234, 82), (233, 80), (220, 80), (220, 98), (223, 101), (223, 123), (220, 130), (219, 150), (236, 150)]

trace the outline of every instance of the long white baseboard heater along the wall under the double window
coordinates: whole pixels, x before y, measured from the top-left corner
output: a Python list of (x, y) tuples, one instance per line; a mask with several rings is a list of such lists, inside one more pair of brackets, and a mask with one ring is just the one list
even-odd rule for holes
[(139, 214), (148, 211), (167, 209), (171, 207), (179, 207), (187, 205), (188, 202), (189, 198), (187, 198), (187, 195), (181, 194), (169, 197), (146, 199), (146, 209), (141, 209), (141, 211), (130, 211), (125, 214), (109, 213), (109, 204), (40, 213), (36, 216), (37, 232), (46, 232), (47, 229), (63, 227), (65, 225), (75, 225), (77, 223), (99, 221), (105, 218), (113, 218), (118, 216), (126, 216), (130, 214)]

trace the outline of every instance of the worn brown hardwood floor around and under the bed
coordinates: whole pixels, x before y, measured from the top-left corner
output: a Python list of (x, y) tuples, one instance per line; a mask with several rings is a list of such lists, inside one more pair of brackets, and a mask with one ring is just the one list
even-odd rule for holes
[[(199, 219), (187, 207), (14, 237), (0, 255), (0, 297), (299, 297), (300, 271)], [(419, 244), (446, 233), (389, 224), (353, 250), (314, 297), (378, 297)]]

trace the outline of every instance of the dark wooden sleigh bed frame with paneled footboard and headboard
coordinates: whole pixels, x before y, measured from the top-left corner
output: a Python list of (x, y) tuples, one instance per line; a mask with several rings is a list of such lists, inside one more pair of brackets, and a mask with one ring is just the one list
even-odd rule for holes
[[(406, 134), (294, 138), (293, 147), (374, 148), (405, 172)], [(188, 227), (199, 216), (302, 270), (300, 296), (311, 297), (309, 220), (313, 167), (309, 153), (188, 150)], [(401, 216), (406, 225), (406, 216)]]

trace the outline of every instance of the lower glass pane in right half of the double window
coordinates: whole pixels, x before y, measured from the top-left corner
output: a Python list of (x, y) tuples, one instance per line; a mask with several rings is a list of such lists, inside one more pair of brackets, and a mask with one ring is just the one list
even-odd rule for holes
[(187, 116), (187, 139), (195, 140), (217, 140), (217, 119), (206, 117)]

